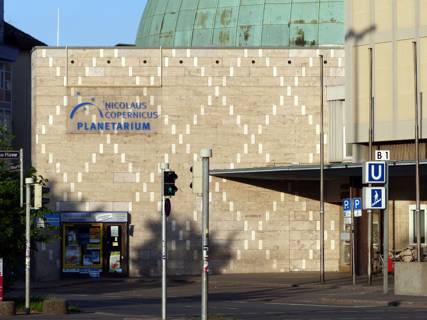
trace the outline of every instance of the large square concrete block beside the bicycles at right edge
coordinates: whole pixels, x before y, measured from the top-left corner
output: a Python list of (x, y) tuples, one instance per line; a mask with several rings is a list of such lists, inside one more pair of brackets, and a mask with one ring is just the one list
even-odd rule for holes
[(427, 263), (395, 262), (395, 294), (427, 296)]

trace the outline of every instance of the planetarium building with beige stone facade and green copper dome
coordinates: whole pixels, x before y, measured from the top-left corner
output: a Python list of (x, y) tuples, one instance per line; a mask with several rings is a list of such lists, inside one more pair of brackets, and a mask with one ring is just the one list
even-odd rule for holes
[[(38, 248), (37, 277), (158, 276), (163, 256), (170, 275), (201, 273), (201, 149), (209, 273), (320, 270), (321, 69), (325, 270), (350, 270), (344, 6), (148, 0), (135, 46), (36, 47), (32, 164), (61, 235)], [(167, 252), (161, 163), (178, 176)]]

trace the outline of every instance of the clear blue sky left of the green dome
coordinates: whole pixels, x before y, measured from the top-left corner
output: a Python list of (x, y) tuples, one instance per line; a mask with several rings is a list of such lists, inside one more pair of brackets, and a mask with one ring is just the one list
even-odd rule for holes
[(4, 0), (4, 20), (56, 46), (134, 44), (146, 0)]

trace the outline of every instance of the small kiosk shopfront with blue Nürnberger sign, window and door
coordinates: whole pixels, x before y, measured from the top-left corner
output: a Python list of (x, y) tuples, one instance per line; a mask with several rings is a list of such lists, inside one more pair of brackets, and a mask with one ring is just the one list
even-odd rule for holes
[(61, 212), (63, 275), (127, 276), (127, 215)]

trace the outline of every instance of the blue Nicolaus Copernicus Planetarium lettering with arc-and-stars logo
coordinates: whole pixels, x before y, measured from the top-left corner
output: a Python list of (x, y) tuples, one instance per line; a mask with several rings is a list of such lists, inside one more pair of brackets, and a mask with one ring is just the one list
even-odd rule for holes
[[(91, 107), (93, 106), (93, 107)], [(105, 102), (105, 111), (102, 112), (96, 105), (91, 102), (82, 102), (73, 108), (70, 113), (70, 119), (79, 109), (83, 112), (88, 111), (88, 108), (96, 108), (99, 112), (99, 120), (78, 121), (76, 128), (82, 130), (151, 130), (149, 119), (157, 119), (157, 111), (146, 111), (146, 102)], [(95, 111), (95, 114), (98, 114)]]

